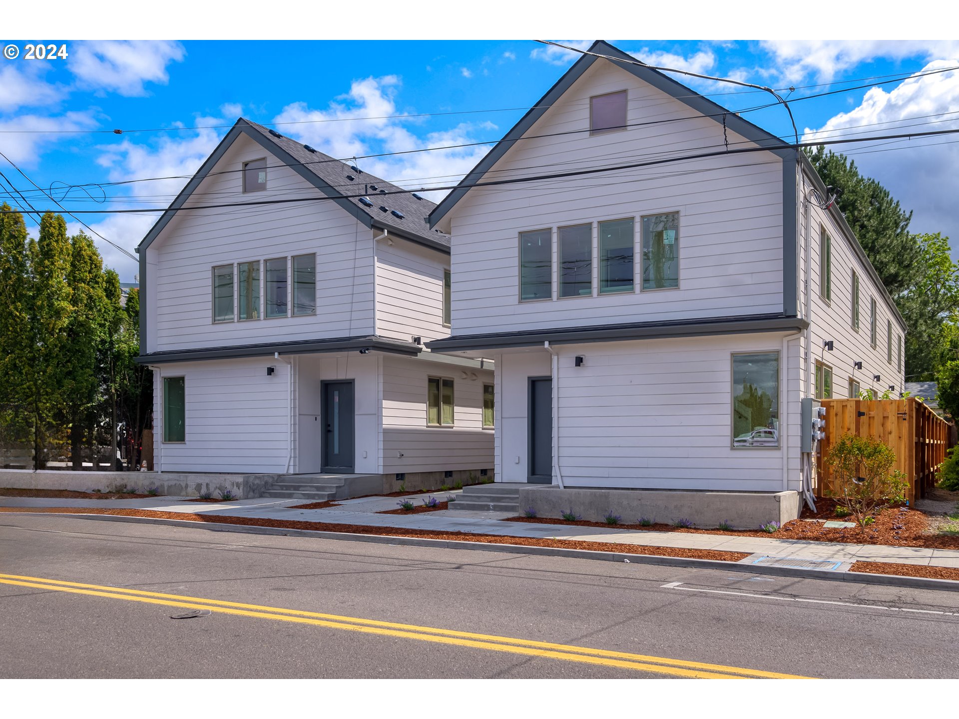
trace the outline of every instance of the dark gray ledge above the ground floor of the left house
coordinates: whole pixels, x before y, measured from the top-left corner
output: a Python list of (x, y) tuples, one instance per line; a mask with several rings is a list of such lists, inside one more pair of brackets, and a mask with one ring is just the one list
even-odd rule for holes
[(389, 352), (394, 355), (415, 357), (423, 348), (402, 339), (390, 339), (377, 335), (336, 337), (334, 339), (304, 339), (295, 342), (264, 342), (240, 344), (227, 347), (205, 347), (193, 350), (166, 350), (151, 352), (136, 358), (140, 364), (163, 364), (165, 362), (189, 362), (199, 359), (229, 359), (245, 357), (272, 357), (281, 355), (315, 355), (322, 352), (349, 352), (351, 350)]

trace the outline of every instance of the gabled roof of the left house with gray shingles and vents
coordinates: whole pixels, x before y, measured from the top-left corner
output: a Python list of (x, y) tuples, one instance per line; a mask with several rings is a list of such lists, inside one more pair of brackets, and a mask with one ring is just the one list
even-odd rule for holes
[[(431, 229), (427, 224), (427, 216), (436, 206), (430, 200), (412, 197), (411, 194), (403, 192), (402, 188), (380, 177), (362, 172), (362, 168), (353, 171), (349, 165), (328, 154), (320, 151), (309, 151), (305, 145), (244, 118), (237, 120), (233, 128), (230, 128), (217, 149), (206, 158), (197, 174), (176, 196), (170, 208), (160, 216), (159, 220), (156, 220), (150, 232), (147, 233), (147, 236), (137, 248), (138, 251), (142, 252), (159, 236), (167, 223), (175, 217), (176, 211), (199, 187), (199, 183), (203, 181), (207, 174), (212, 172), (223, 153), (241, 135), (246, 135), (259, 143), (266, 151), (273, 154), (282, 163), (290, 167), (292, 171), (310, 182), (323, 195), (330, 197), (332, 201), (367, 227), (386, 229), (414, 243), (425, 244), (433, 247), (433, 249), (449, 253), (449, 236)], [(350, 180), (347, 175), (351, 175), (355, 179)], [(376, 185), (377, 190), (372, 190), (368, 187), (369, 185)], [(387, 195), (380, 193), (380, 190), (386, 190), (387, 193), (399, 191), (399, 193)], [(368, 198), (373, 203), (372, 207), (366, 207), (360, 202), (363, 192), (368, 193)], [(380, 209), (381, 206), (386, 207), (386, 212)], [(393, 210), (399, 212), (403, 217), (393, 215)]]

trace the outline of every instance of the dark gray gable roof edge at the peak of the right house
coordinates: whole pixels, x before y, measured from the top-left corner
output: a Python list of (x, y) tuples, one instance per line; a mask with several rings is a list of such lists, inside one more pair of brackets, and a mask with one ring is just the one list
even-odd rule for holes
[[(768, 147), (770, 151), (773, 151), (784, 158), (795, 157), (795, 151), (789, 150), (787, 144), (784, 143), (780, 138), (776, 137), (776, 135), (767, 132), (757, 125), (753, 125), (748, 120), (743, 120), (736, 113), (732, 112), (726, 107), (713, 103), (712, 100), (703, 97), (695, 90), (690, 89), (681, 82), (677, 82), (672, 78), (667, 77), (667, 75), (664, 75), (659, 70), (653, 70), (650, 67), (634, 64), (637, 61), (636, 58), (633, 58), (631, 55), (622, 52), (617, 47), (613, 47), (608, 42), (604, 40), (596, 40), (596, 42), (590, 46), (588, 52), (613, 58), (610, 60), (613, 62), (615, 62), (616, 59), (624, 60), (623, 62), (616, 64), (618, 67), (622, 68), (631, 75), (634, 75), (647, 84), (652, 85), (656, 89), (665, 92), (667, 95), (675, 98), (679, 102), (689, 105), (697, 112), (700, 112), (703, 115), (711, 116), (712, 119), (720, 125), (722, 125), (723, 118), (725, 118), (727, 128), (733, 130), (750, 142), (756, 143), (760, 147)], [(526, 115), (524, 115), (523, 118), (503, 136), (503, 139), (500, 140), (500, 142), (497, 143), (493, 149), (479, 161), (479, 164), (473, 168), (469, 174), (463, 177), (462, 180), (460, 180), (459, 184), (456, 186), (456, 189), (443, 198), (443, 200), (436, 206), (436, 209), (434, 209), (430, 214), (431, 227), (435, 227), (436, 223), (439, 222), (439, 220), (442, 220), (443, 217), (453, 209), (454, 205), (456, 205), (456, 202), (466, 195), (466, 193), (469, 191), (469, 188), (473, 184), (479, 182), (482, 176), (486, 174), (501, 157), (503, 157), (506, 151), (513, 147), (513, 144), (517, 140), (521, 139), (523, 135), (526, 134), (526, 131), (531, 128), (537, 120), (546, 114), (552, 104), (556, 103), (563, 96), (563, 94), (570, 89), (570, 87), (573, 85), (573, 82), (579, 80), (583, 73), (592, 67), (593, 63), (596, 62), (597, 59), (599, 58), (596, 58), (595, 55), (583, 55), (573, 63), (573, 67), (567, 70), (563, 77), (561, 77), (552, 87), (550, 87), (550, 90), (539, 100), (539, 102), (533, 104), (532, 109), (526, 112)], [(586, 129), (584, 129), (584, 131), (586, 131)]]

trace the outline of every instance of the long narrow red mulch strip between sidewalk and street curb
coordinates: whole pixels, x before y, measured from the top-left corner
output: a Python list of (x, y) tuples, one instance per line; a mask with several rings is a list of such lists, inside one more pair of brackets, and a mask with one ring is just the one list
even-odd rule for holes
[(308, 529), (318, 532), (346, 534), (371, 534), (381, 537), (423, 537), (448, 542), (477, 542), (485, 545), (550, 546), (563, 549), (588, 549), (590, 551), (617, 552), (619, 554), (643, 554), (683, 559), (712, 559), (718, 562), (738, 562), (749, 556), (744, 552), (727, 552), (715, 549), (684, 549), (675, 546), (616, 545), (610, 542), (576, 542), (573, 540), (534, 539), (532, 537), (501, 537), (492, 534), (469, 534), (467, 532), (436, 532), (430, 529), (399, 529), (363, 524), (333, 524), (329, 522), (298, 522), (294, 520), (266, 520), (255, 517), (224, 517), (222, 515), (187, 514), (184, 512), (161, 512), (152, 509), (97, 509), (95, 507), (0, 507), (0, 513), (16, 514), (96, 514), (113, 517), (145, 517), (160, 520), (205, 522), (209, 524), (242, 524), (244, 526), (269, 526), (280, 529)]

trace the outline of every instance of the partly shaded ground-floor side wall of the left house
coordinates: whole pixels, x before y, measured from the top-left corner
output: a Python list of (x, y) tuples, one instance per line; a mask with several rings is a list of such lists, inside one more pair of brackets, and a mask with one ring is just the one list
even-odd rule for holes
[[(463, 378), (463, 372), (467, 378)], [(471, 379), (476, 375), (476, 379)], [(453, 427), (427, 426), (427, 380), (454, 381)], [(482, 385), (493, 373), (448, 362), (385, 357), (383, 472), (493, 468), (494, 430), (482, 428)], [(399, 454), (403, 456), (399, 456)]]

